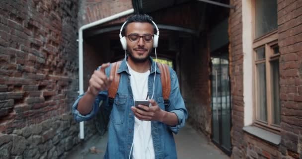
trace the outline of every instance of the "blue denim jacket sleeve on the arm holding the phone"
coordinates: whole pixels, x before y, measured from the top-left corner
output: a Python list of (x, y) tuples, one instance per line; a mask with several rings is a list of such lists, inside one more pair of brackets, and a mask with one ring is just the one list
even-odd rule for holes
[(175, 113), (178, 118), (178, 125), (169, 126), (169, 129), (174, 133), (177, 134), (179, 129), (185, 125), (185, 121), (188, 118), (188, 111), (185, 107), (183, 98), (181, 96), (179, 90), (179, 83), (176, 76), (176, 73), (171, 68), (170, 77), (171, 77), (171, 92), (170, 92), (170, 104), (167, 108), (167, 111)]

